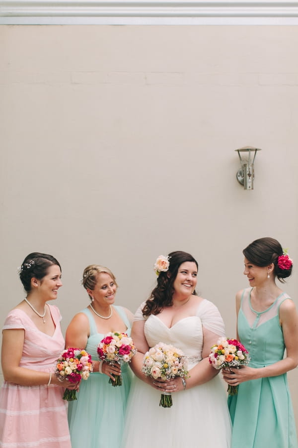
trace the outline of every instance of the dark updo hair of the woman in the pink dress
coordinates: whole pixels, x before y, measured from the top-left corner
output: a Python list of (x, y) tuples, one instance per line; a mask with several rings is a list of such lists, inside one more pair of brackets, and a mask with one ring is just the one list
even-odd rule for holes
[(40, 252), (29, 253), (18, 268), (24, 290), (29, 293), (31, 291), (31, 279), (42, 280), (47, 275), (49, 267), (53, 265), (59, 266), (61, 270), (59, 262), (52, 255)]

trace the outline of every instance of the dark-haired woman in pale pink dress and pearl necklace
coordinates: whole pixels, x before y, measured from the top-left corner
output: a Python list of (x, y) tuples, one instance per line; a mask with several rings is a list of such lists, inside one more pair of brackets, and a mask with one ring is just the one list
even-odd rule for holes
[[(8, 313), (2, 331), (0, 447), (71, 448), (66, 381), (54, 374), (64, 349), (55, 300), (61, 266), (51, 255), (30, 253), (19, 268), (26, 298)], [(73, 386), (75, 388), (76, 386)]]

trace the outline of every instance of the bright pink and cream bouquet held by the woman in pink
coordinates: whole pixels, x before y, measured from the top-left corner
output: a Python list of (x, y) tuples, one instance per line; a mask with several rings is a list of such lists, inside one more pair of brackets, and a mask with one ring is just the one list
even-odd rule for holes
[[(86, 350), (80, 348), (66, 348), (56, 362), (55, 375), (60, 381), (66, 378), (70, 383), (78, 383), (88, 379), (93, 370), (92, 360)], [(76, 400), (76, 390), (66, 389), (63, 399)]]

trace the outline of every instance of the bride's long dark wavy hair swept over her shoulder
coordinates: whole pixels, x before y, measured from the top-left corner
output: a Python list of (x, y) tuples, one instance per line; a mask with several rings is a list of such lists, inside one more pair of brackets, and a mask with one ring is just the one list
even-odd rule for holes
[[(194, 262), (198, 269), (197, 260), (187, 252), (176, 250), (168, 254), (169, 268), (166, 272), (159, 272), (157, 277), (157, 286), (153, 289), (149, 299), (143, 308), (143, 316), (150, 316), (150, 314), (159, 314), (163, 307), (173, 305), (174, 281), (176, 279), (179, 266), (186, 261)], [(197, 295), (196, 291), (193, 292)]]

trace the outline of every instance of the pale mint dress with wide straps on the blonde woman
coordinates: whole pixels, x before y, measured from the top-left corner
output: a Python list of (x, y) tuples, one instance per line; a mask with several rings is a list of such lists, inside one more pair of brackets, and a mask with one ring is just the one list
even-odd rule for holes
[[(127, 326), (130, 336), (131, 324), (122, 307), (113, 306)], [(90, 326), (90, 336), (85, 349), (97, 361), (97, 345), (104, 337), (97, 333), (95, 321), (88, 308), (82, 310)], [(122, 386), (113, 387), (109, 377), (93, 372), (81, 381), (77, 400), (69, 403), (68, 420), (72, 448), (119, 448), (126, 411), (127, 397), (133, 373), (125, 363), (122, 366)]]

